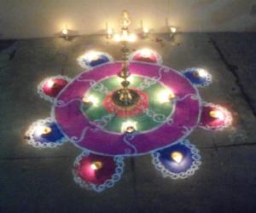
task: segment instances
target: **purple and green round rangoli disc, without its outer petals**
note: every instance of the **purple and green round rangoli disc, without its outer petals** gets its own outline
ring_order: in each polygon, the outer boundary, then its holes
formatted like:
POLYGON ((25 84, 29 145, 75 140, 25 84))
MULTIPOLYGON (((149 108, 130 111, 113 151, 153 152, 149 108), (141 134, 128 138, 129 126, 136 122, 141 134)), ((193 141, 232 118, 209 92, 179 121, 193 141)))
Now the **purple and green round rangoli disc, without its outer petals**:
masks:
POLYGON ((199 122, 201 98, 187 78, 165 66, 131 62, 131 87, 145 94, 148 103, 135 115, 129 109, 126 117, 109 112, 104 99, 119 89, 116 73, 121 65, 108 63, 83 72, 61 91, 53 112, 63 134, 78 147, 112 156, 149 153, 189 135, 199 122), (165 102, 162 94, 168 93, 175 97, 165 102), (87 106, 84 96, 96 103, 87 106), (125 122, 135 123, 137 131, 124 134, 125 122))

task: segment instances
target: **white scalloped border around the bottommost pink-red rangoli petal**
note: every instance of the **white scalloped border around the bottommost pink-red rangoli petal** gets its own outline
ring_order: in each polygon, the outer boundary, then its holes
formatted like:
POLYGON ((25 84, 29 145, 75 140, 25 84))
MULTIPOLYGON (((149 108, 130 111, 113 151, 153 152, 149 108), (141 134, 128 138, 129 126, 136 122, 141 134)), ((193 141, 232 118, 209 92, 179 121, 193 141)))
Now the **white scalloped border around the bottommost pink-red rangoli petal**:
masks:
MULTIPOLYGON (((89 156, 89 152, 83 152, 81 153, 74 161, 73 166, 76 167, 79 165, 80 160, 83 157, 89 156)), ((111 188, 114 186, 116 182, 118 182, 121 179, 121 176, 124 171, 124 158, 120 156, 115 156, 113 157, 113 160, 115 161, 116 168, 115 168, 115 173, 111 176, 110 179, 106 180, 104 183, 101 185, 96 185, 94 183, 90 183, 87 181, 83 181, 82 178, 80 178, 76 172, 76 170, 72 170, 73 172, 73 181, 75 181, 77 184, 79 184, 80 187, 86 188, 88 190, 93 190, 96 193, 101 193, 107 188, 111 188)))

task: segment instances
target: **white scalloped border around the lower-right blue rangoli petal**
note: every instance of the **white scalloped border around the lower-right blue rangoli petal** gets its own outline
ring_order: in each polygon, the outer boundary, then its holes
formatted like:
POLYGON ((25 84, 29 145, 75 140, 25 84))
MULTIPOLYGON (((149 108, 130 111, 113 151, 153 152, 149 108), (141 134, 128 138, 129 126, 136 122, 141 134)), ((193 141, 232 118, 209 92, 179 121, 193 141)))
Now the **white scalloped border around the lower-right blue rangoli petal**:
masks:
MULTIPOLYGON (((164 164, 160 162, 160 153, 156 151, 155 153, 151 154, 154 168, 156 170, 160 170, 162 176, 165 178, 170 177, 175 180, 185 179, 188 178, 189 176, 193 176, 195 174, 195 170, 199 170, 199 167, 201 165, 201 155, 199 154, 199 150, 195 147, 195 145, 191 144, 189 140, 180 141, 179 143, 185 147, 188 147, 192 153, 193 162, 190 168, 184 172, 174 173, 171 172, 170 170, 167 170, 164 164)), ((175 146, 175 144, 173 146, 175 146)))

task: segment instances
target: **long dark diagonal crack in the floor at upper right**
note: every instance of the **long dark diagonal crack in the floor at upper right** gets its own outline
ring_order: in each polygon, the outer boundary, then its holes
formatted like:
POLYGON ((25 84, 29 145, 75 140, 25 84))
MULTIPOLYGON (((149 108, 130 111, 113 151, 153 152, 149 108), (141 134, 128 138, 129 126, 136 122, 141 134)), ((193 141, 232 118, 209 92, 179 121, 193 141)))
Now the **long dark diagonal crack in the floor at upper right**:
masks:
POLYGON ((249 95, 247 95, 246 90, 244 89, 243 85, 241 84, 239 75, 236 72, 238 70, 238 66, 230 64, 230 62, 226 59, 226 57, 224 56, 224 53, 218 47, 218 44, 216 43, 216 41, 212 37, 210 37, 210 43, 212 43, 212 46, 218 52, 220 60, 222 60, 224 62, 224 65, 227 67, 228 71, 230 71, 233 74, 233 76, 236 78, 236 84, 239 87, 239 89, 241 90, 241 94, 243 95, 244 100, 247 102, 248 107, 253 112, 253 116, 256 118, 256 110, 254 109, 251 98, 250 98, 249 95))

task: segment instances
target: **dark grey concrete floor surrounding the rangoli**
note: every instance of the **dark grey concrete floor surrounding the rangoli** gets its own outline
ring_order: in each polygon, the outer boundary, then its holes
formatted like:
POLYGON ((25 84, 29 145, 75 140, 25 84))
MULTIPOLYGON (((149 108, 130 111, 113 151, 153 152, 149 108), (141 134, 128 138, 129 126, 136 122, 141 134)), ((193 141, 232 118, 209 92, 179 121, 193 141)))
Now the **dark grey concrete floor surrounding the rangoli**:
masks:
POLYGON ((79 188, 71 173, 78 148, 66 143, 38 150, 23 134, 33 121, 49 117, 51 105, 37 95, 42 79, 61 71, 75 77, 82 71, 76 58, 88 49, 120 60, 119 45, 101 36, 1 41, 0 212, 256 212, 256 33, 184 33, 175 41, 157 37, 132 43, 131 49, 155 49, 166 66, 177 70, 207 68, 213 83, 200 89, 203 100, 233 113, 228 130, 198 129, 189 136, 201 150, 201 170, 174 181, 162 178, 149 155, 125 158, 115 187, 103 193, 79 188))

